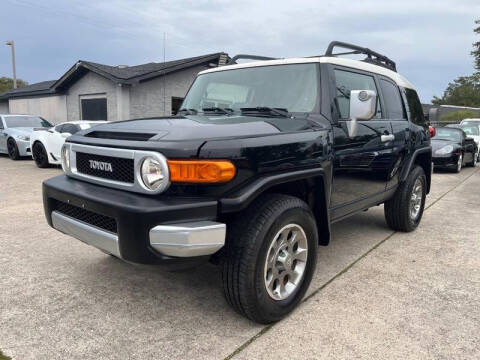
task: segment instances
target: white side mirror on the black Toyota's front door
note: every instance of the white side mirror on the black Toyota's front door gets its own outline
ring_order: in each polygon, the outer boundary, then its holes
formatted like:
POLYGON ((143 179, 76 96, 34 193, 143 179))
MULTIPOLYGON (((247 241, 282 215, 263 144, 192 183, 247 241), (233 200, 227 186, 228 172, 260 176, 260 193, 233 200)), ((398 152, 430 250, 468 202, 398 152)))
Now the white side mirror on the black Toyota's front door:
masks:
POLYGON ((350 91, 350 121, 348 136, 357 136, 358 120, 370 120, 375 115, 377 93, 373 90, 350 91))

